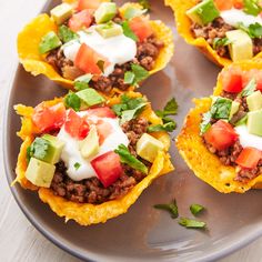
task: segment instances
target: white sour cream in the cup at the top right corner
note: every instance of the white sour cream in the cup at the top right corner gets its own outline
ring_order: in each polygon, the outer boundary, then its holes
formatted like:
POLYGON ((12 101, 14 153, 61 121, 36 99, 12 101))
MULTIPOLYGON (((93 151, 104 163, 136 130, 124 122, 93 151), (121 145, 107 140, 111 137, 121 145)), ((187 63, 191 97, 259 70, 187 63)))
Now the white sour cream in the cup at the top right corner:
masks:
POLYGON ((226 23, 229 23, 232 27, 236 27, 240 22, 242 22, 245 27, 249 27, 250 24, 253 24, 256 22, 262 24, 262 19, 260 16, 254 17, 254 16, 243 12, 242 10, 234 9, 234 8, 222 11, 220 16, 221 18, 223 18, 223 20, 226 23))

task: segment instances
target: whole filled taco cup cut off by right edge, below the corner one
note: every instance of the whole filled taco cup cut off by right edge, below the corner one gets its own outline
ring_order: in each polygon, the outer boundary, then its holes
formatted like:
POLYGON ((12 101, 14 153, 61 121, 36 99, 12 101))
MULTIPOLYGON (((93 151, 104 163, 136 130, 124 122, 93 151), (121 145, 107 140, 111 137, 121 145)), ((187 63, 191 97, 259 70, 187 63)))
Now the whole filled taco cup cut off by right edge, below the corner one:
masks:
POLYGON ((261 188, 262 61, 224 68, 210 98, 195 99, 177 138, 194 174, 222 193, 261 188))

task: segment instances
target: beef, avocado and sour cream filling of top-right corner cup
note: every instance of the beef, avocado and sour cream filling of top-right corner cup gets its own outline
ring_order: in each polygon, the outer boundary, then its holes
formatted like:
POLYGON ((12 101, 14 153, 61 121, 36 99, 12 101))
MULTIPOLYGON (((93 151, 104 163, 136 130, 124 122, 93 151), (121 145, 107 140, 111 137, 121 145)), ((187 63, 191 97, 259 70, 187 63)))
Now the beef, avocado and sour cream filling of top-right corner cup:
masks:
POLYGON ((262 6, 256 0, 203 0, 187 11, 194 38, 222 58, 240 61, 262 51, 262 6))

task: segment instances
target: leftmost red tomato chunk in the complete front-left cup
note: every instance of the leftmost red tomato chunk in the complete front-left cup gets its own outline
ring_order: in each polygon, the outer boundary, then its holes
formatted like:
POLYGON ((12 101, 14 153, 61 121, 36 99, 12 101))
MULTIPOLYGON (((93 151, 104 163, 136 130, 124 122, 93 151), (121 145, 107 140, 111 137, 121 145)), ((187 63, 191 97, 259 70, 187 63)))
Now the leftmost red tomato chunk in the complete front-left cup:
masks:
POLYGON ((41 132, 58 130, 66 120, 66 108, 62 102, 52 107, 46 102, 38 104, 32 114, 33 123, 41 132))

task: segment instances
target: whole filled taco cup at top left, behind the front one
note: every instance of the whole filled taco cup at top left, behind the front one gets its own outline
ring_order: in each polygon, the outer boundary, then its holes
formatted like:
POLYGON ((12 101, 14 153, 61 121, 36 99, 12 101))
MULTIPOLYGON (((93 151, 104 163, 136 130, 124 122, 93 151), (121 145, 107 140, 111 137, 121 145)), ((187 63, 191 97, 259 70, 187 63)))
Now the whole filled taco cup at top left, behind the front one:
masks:
POLYGON ((108 94, 138 85, 173 54, 171 29, 142 6, 102 0, 64 1, 28 23, 17 44, 33 75, 74 89, 78 77, 92 74, 90 87, 108 94))

